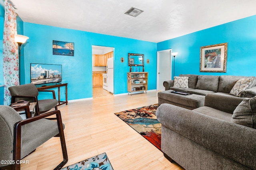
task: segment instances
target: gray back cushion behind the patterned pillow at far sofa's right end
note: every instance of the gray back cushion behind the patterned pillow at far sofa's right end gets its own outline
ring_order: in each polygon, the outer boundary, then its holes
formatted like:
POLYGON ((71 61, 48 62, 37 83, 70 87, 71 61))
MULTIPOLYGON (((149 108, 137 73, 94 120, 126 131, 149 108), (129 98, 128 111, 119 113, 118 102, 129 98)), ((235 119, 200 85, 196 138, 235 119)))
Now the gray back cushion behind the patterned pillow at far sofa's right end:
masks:
MULTIPOLYGON (((221 75, 219 81, 218 92, 230 93, 231 89, 236 84, 236 81, 239 79, 246 78, 254 78, 254 77, 246 77, 246 76, 234 76, 234 75, 221 75)), ((252 87, 255 86, 256 81, 254 81, 252 87)))

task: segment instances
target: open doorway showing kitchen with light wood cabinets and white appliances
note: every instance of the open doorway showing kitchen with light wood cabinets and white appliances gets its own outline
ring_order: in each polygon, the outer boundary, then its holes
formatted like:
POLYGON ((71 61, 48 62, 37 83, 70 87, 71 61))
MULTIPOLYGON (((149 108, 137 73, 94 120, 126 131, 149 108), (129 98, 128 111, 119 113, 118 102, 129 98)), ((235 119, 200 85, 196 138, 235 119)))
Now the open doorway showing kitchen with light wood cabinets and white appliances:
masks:
POLYGON ((92 97, 112 96, 113 75, 108 72, 108 64, 112 63, 114 48, 92 45, 92 97), (112 58, 112 59, 110 59, 112 58), (111 79, 112 77, 112 79, 111 79))

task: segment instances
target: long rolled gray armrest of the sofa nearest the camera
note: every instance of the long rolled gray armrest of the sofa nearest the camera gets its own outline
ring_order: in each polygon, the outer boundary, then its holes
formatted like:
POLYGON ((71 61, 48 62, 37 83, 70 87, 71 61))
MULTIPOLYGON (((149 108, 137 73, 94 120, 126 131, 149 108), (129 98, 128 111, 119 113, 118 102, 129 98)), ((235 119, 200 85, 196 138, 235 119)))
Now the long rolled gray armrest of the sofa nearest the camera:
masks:
POLYGON ((166 103, 158 107, 156 117, 170 130, 256 169, 256 129, 166 103))

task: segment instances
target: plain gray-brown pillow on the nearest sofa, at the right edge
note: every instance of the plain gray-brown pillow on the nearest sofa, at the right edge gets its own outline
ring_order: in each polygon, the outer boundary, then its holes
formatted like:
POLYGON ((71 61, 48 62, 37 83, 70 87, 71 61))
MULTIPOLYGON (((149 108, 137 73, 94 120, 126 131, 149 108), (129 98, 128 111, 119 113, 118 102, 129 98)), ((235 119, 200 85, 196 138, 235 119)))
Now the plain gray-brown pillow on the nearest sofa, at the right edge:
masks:
POLYGON ((256 128, 256 97, 244 99, 234 110, 231 122, 256 128))

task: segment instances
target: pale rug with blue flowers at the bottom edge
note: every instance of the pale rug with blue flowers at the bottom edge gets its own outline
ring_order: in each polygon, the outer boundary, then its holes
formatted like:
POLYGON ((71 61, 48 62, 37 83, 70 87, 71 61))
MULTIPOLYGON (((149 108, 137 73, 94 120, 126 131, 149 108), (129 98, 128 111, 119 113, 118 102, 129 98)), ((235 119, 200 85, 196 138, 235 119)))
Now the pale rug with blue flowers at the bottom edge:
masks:
POLYGON ((83 160, 61 170, 113 170, 106 153, 83 160))

